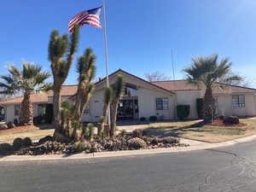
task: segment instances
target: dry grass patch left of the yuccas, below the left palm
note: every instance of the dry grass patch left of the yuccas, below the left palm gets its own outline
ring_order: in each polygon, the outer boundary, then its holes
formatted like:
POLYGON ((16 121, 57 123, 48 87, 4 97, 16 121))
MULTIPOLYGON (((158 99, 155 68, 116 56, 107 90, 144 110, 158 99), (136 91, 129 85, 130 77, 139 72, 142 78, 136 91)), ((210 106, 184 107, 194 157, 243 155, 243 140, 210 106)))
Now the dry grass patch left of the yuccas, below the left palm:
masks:
POLYGON ((32 140, 38 140, 42 137, 53 135, 53 129, 40 130, 38 127, 22 131, 6 131, 0 132, 0 143, 12 143, 16 137, 30 137, 32 140))

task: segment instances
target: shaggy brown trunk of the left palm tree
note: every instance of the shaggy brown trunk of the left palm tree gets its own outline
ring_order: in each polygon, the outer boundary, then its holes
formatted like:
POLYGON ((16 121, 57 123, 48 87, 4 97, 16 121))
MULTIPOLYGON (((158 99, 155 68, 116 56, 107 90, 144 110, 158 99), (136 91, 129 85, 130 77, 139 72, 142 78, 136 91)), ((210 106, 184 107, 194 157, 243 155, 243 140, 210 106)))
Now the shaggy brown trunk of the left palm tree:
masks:
POLYGON ((20 125, 32 125, 33 124, 33 107, 30 100, 30 92, 24 93, 23 101, 20 108, 20 125))

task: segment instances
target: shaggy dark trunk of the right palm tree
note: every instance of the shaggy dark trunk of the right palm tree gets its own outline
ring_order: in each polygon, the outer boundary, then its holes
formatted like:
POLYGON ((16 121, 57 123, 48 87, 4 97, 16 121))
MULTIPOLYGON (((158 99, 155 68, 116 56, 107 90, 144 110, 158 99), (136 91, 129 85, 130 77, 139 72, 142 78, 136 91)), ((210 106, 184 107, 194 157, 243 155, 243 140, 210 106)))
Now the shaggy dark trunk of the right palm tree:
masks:
POLYGON ((204 119, 205 122, 211 122, 215 117, 214 98, 212 96, 212 88, 207 88, 204 96, 204 119))

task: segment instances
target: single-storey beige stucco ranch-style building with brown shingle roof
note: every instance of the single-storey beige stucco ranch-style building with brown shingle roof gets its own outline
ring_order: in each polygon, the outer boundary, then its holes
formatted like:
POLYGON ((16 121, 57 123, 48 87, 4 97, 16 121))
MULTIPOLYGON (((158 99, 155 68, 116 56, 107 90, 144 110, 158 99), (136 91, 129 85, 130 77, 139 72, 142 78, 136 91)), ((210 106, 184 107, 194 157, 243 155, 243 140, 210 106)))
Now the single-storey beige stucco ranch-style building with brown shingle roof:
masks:
MULTIPOLYGON (((117 75, 122 75, 125 81, 125 94, 119 102, 118 120, 148 119, 156 116, 158 119, 176 119, 176 106, 190 106, 188 119, 198 119, 196 99, 204 96, 204 89, 187 84, 185 80, 148 82, 121 69, 109 75, 113 84, 117 75)), ((83 122, 97 122, 102 116, 104 89, 106 78, 96 82, 96 90, 91 97, 88 108, 84 110, 83 122)), ((61 99, 74 99, 76 85, 63 85, 61 99)), ((234 85, 227 85, 223 90, 214 88, 213 96, 219 115, 236 115, 242 117, 256 116, 256 90, 234 85)), ((52 91, 32 94, 34 116, 47 115, 52 110, 52 91)), ((19 118, 20 102, 18 96, 2 102, 5 108, 7 122, 19 118)), ((22 113, 22 112, 21 112, 22 113)), ((52 113, 50 114, 52 115, 52 113)))

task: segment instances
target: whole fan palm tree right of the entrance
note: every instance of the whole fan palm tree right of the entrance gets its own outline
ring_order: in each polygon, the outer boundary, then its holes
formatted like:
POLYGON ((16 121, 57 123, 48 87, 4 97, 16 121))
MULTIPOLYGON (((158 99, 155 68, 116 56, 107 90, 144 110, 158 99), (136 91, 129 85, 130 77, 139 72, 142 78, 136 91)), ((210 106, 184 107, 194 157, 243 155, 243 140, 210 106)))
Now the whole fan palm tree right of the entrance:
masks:
POLYGON ((228 58, 218 61, 218 55, 207 57, 196 57, 192 59, 191 67, 183 69, 187 73, 187 82, 200 87, 203 85, 206 89, 204 96, 204 118, 208 122, 214 118, 215 105, 212 96, 212 88, 218 86, 224 88, 224 85, 232 81, 241 80, 238 75, 230 75, 232 63, 228 58))

